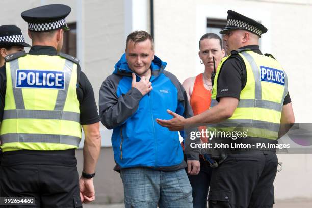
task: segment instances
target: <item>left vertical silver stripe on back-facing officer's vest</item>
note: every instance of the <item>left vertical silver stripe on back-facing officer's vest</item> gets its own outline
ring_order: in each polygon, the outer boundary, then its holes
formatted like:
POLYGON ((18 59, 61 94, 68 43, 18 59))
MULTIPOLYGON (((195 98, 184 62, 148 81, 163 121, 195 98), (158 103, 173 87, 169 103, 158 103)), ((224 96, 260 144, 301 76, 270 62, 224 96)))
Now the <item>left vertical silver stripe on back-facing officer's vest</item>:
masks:
POLYGON ((18 59, 15 59, 10 62, 11 68, 11 77, 12 77, 12 85, 13 85, 13 95, 15 99, 16 109, 25 109, 23 94, 21 88, 15 88, 16 86, 16 71, 19 69, 18 59))

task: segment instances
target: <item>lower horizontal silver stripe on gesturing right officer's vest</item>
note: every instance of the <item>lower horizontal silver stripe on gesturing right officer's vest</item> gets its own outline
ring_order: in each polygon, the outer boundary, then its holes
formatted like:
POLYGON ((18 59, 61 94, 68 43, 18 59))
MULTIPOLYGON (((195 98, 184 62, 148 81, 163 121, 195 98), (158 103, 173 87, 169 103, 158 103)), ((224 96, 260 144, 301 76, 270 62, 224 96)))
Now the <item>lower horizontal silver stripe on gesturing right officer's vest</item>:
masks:
POLYGON ((228 120, 225 120, 224 122, 220 122, 217 124, 209 124, 208 127, 259 128, 259 129, 266 129, 266 130, 274 131, 274 132, 278 132, 279 130, 278 123, 271 123, 267 121, 258 121, 258 120, 248 120, 248 119, 228 119, 228 120))

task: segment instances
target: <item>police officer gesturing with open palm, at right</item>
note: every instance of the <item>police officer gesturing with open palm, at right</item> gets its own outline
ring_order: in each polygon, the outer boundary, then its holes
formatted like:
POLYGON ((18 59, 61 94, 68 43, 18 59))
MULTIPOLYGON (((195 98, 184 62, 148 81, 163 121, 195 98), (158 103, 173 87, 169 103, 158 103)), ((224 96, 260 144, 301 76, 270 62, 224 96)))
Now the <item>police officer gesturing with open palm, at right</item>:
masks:
MULTIPOLYGON (((216 132, 233 133, 241 129, 244 132, 240 138, 236 135, 236 139, 232 137, 227 142, 266 145, 266 148, 226 150, 227 157, 221 158, 223 162, 220 160, 219 167, 213 169, 210 208, 274 204, 273 181, 278 163, 274 145, 280 136, 280 124, 292 124, 295 119, 282 66, 259 49, 259 38, 266 32, 264 25, 228 10, 226 27, 220 33, 224 34, 230 54, 218 66, 211 108, 188 119, 172 112, 169 112, 174 116, 171 120, 157 119, 172 131, 195 123, 210 123, 211 130, 216 132)), ((215 142, 218 139, 212 138, 215 142)))

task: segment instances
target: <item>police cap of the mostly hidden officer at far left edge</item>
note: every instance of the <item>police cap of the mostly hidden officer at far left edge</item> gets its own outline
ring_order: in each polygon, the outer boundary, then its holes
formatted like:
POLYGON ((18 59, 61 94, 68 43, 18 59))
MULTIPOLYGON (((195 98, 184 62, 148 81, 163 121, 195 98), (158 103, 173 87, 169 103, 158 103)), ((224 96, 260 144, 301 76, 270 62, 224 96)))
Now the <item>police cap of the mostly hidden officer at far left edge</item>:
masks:
POLYGON ((15 25, 2 25, 0 26, 0 47, 9 46, 31 47, 25 43, 20 28, 15 25))

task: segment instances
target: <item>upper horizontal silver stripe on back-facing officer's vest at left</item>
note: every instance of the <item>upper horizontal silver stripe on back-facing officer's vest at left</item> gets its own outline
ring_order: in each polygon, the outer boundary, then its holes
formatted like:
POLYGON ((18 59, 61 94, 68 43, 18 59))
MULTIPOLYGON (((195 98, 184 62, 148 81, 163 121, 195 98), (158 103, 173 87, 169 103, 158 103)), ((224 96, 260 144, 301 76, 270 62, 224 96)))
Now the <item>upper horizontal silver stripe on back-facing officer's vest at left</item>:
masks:
POLYGON ((70 111, 43 111, 13 109, 4 110, 3 119, 34 118, 34 119, 58 119, 80 122, 80 114, 70 111))

